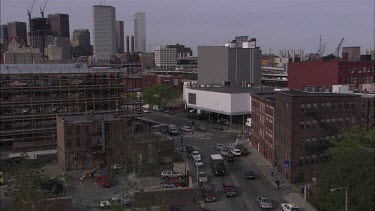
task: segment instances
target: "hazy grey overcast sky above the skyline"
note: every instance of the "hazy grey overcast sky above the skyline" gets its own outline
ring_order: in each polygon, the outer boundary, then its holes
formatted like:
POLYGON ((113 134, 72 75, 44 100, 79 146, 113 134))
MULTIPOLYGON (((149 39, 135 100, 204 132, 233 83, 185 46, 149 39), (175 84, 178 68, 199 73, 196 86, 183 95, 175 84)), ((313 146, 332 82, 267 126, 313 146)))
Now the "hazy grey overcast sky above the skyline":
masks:
MULTIPOLYGON (((36 0, 32 17, 45 0, 36 0)), ((374 48, 375 0, 101 0, 116 8, 116 19, 133 34, 133 15, 146 12, 147 48, 158 45, 224 45, 236 35, 256 37, 263 53, 304 49, 316 53, 319 36, 325 54, 343 46, 374 48)), ((92 33, 92 5, 100 0, 49 0, 45 14, 70 15, 70 33, 92 33)), ((0 0, 1 24, 27 21, 32 0, 0 0)), ((91 40, 92 42, 92 40, 91 40)))

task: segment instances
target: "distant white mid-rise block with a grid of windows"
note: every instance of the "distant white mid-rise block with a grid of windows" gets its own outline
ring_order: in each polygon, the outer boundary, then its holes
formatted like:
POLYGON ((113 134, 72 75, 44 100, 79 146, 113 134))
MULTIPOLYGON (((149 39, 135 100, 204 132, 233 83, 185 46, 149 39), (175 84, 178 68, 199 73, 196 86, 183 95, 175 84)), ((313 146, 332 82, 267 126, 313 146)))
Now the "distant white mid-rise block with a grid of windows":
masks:
POLYGON ((177 52, 175 48, 160 46, 155 49, 155 66, 160 69, 175 68, 177 65, 177 52))

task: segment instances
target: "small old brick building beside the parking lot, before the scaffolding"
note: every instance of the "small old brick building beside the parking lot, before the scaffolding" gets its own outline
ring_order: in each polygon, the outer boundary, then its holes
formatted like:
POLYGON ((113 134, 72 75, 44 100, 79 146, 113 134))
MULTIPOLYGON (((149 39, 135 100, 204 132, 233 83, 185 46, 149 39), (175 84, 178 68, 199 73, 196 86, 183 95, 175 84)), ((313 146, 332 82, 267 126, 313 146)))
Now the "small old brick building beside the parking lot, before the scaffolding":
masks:
POLYGON ((121 119, 112 113, 56 117, 57 158, 64 171, 105 164, 105 143, 121 135, 121 119))

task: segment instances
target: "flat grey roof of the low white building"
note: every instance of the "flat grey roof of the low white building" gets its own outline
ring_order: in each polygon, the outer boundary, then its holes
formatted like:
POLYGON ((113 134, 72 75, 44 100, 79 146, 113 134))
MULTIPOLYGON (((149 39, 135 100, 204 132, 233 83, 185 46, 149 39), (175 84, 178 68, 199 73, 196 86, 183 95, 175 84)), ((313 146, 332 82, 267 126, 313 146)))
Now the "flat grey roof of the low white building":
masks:
MULTIPOLYGON (((193 90, 202 90, 208 92, 220 92, 220 93, 229 93, 229 94, 236 94, 236 93, 258 93, 261 91, 260 87, 244 87, 244 86, 205 86, 205 87, 189 87, 193 90)), ((263 87, 262 90, 264 92, 273 91, 271 87, 263 87)))

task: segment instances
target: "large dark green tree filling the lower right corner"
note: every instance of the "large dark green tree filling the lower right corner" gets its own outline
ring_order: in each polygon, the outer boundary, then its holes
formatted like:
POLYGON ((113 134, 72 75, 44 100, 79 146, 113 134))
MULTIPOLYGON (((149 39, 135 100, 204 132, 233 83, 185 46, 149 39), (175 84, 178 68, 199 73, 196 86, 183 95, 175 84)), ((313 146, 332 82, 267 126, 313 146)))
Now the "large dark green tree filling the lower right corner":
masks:
POLYGON ((319 210, 343 210, 347 187, 349 210, 375 210, 375 130, 353 128, 332 142, 331 161, 317 182, 313 203, 319 210))

